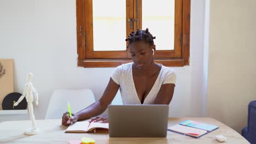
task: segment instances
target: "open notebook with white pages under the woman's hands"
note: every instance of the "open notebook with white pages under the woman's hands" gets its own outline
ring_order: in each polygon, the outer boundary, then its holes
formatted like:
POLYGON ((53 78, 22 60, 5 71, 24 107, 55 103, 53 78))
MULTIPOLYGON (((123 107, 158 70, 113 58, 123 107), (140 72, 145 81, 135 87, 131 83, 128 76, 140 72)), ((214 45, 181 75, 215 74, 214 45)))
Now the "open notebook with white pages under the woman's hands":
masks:
POLYGON ((108 123, 97 123, 97 122, 75 122, 69 125, 65 133, 108 133, 108 123))

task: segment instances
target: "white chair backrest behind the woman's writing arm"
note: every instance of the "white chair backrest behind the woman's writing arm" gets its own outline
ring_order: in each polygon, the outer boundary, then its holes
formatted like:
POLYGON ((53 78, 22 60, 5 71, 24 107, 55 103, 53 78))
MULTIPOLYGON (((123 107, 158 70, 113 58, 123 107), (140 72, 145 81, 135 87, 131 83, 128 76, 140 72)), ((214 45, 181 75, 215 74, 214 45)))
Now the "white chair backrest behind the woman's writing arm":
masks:
POLYGON ((90 89, 57 89, 51 95, 45 119, 61 119, 68 111, 67 101, 71 112, 76 113, 94 103, 95 97, 90 89))

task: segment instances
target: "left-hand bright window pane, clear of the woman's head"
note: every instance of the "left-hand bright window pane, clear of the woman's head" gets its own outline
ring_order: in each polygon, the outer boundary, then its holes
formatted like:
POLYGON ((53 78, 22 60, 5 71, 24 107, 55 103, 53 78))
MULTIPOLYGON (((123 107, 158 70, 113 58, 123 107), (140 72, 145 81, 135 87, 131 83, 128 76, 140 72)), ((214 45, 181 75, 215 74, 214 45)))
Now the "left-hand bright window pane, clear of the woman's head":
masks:
POLYGON ((126 50, 126 1, 93 0, 94 51, 126 50))

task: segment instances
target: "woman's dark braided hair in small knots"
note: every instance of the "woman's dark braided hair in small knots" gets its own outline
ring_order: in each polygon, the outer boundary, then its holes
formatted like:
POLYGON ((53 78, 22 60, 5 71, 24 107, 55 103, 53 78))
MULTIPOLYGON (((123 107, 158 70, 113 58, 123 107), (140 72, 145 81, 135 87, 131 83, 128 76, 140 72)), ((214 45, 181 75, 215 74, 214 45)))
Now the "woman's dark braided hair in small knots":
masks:
POLYGON ((154 41, 153 39, 155 39, 155 37, 153 37, 153 35, 148 31, 148 28, 146 28, 146 30, 139 30, 136 29, 135 32, 131 32, 128 35, 128 38, 125 39, 125 41, 128 41, 128 44, 132 44, 135 41, 141 41, 144 40, 146 44, 149 45, 154 45, 154 41))

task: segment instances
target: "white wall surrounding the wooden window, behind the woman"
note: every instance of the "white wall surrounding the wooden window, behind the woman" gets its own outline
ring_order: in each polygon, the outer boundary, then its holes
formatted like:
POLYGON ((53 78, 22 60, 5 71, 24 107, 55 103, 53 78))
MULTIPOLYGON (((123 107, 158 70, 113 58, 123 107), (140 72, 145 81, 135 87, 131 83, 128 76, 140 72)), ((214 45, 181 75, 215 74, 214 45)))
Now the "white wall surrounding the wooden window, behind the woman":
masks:
MULTIPOLYGON (((177 83, 170 104, 171 117, 202 115, 206 96, 201 76, 204 11, 203 0, 191 1, 190 66, 174 68, 177 83)), ((74 0, 0 0, 0 17, 0 58, 14 59, 15 92, 22 93, 29 71, 34 74, 33 84, 40 97, 36 119, 44 118, 54 89, 90 88, 97 99, 101 97, 114 68, 77 67, 74 0)), ((0 116, 0 121, 16 119, 28 116, 0 116)))

